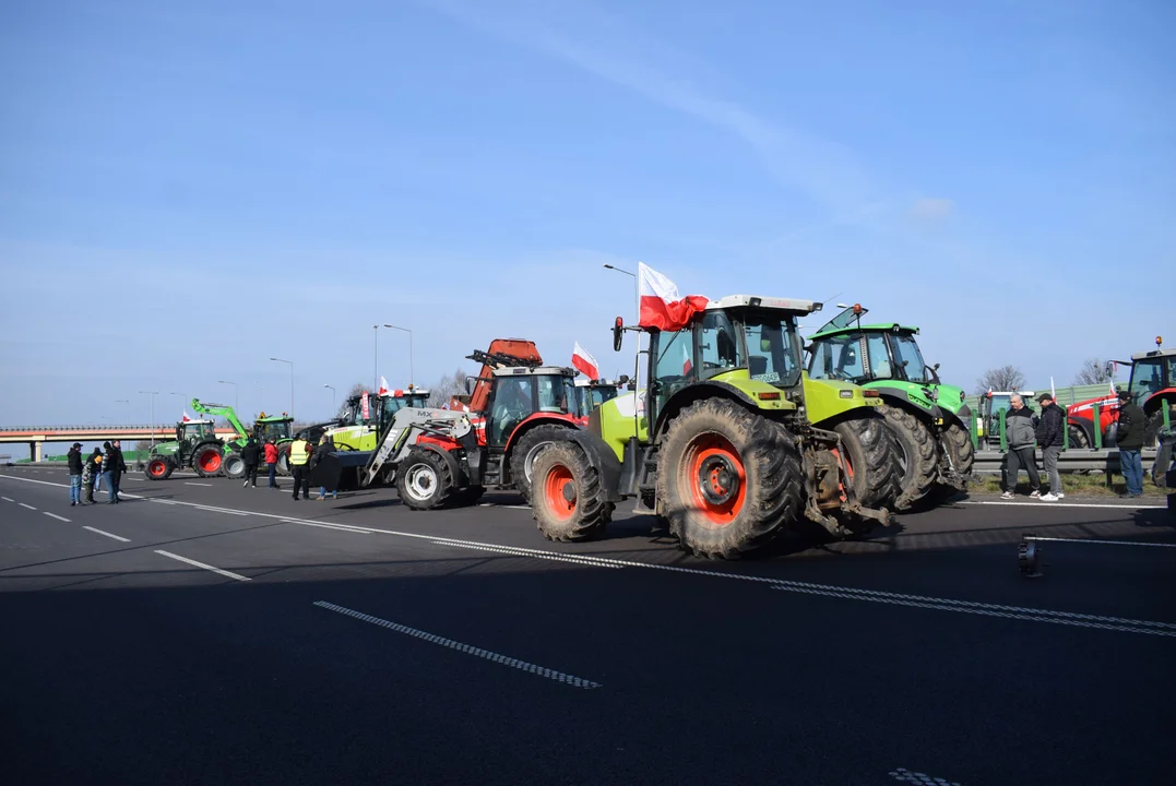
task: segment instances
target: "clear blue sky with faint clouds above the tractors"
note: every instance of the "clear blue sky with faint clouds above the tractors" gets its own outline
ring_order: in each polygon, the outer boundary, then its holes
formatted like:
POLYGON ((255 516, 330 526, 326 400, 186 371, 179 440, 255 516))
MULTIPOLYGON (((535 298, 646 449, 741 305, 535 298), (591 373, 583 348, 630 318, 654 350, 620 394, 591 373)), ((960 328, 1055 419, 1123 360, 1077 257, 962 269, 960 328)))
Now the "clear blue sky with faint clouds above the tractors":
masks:
POLYGON ((1176 5, 816 5, 5 4, 0 424, 282 409, 270 356, 325 417, 377 322, 419 383, 613 374, 603 262, 860 301, 968 388, 1176 342, 1176 5))

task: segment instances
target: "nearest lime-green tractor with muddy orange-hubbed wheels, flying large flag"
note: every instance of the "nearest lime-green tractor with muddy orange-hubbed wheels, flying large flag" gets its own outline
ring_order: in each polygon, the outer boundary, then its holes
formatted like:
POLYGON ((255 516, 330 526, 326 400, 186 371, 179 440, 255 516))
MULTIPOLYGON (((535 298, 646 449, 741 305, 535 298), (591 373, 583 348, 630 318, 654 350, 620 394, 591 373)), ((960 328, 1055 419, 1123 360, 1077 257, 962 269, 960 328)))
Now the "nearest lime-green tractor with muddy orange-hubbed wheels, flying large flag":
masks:
POLYGON ((897 446, 878 394, 804 372, 813 301, 733 295, 677 331, 648 330, 649 388, 597 407, 535 458, 532 510, 553 540, 603 532, 616 503, 652 510, 683 549, 734 558, 800 516, 835 537, 887 523, 897 446))

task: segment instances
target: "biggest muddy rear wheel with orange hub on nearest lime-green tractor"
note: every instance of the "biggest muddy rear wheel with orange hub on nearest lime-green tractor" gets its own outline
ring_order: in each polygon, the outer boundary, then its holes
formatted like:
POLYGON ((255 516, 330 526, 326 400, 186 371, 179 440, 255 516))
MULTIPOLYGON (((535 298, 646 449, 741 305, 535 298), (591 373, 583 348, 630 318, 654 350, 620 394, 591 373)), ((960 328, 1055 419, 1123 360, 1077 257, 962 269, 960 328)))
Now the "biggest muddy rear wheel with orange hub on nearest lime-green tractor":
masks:
POLYGON ((795 520, 801 462, 783 428, 723 398, 674 418, 659 452, 657 509, 682 547, 734 559, 795 520))

